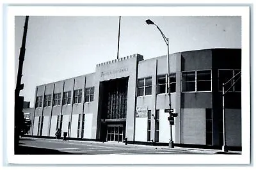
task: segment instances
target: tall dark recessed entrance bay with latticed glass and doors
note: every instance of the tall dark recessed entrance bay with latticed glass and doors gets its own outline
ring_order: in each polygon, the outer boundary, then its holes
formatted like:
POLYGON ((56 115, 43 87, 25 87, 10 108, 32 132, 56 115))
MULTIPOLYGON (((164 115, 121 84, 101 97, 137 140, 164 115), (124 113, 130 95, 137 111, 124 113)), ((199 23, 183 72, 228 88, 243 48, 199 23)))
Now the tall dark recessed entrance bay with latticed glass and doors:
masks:
POLYGON ((100 140, 122 142, 127 114, 129 77, 100 82, 100 140))

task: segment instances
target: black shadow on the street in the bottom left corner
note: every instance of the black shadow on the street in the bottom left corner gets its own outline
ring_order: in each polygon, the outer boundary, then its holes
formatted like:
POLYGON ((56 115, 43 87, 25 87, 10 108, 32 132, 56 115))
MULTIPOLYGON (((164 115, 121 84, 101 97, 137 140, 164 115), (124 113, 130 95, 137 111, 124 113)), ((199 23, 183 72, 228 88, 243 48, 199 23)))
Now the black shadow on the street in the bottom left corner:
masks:
POLYGON ((72 155, 74 153, 67 153, 58 150, 51 150, 45 148, 34 148, 29 146, 18 146, 14 151, 15 155, 72 155))

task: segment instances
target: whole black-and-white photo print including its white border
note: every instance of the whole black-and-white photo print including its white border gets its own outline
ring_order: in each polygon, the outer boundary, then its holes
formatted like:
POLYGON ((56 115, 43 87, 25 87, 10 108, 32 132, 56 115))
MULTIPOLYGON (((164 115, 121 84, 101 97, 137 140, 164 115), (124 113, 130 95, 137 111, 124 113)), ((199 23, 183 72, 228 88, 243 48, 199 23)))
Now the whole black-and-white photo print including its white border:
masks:
POLYGON ((248 162, 248 8, 16 7, 8 21, 15 63, 8 148, 17 164, 47 155, 248 162))

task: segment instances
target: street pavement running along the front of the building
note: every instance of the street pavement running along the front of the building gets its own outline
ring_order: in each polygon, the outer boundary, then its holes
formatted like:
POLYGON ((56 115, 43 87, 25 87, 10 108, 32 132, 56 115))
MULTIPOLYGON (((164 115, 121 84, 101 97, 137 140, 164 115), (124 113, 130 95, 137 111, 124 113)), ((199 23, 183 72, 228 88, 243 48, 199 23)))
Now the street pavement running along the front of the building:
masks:
MULTIPOLYGON (((21 137, 15 154, 215 154, 221 150, 21 137)), ((241 154, 228 151, 228 154, 241 154)))

